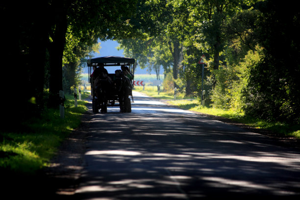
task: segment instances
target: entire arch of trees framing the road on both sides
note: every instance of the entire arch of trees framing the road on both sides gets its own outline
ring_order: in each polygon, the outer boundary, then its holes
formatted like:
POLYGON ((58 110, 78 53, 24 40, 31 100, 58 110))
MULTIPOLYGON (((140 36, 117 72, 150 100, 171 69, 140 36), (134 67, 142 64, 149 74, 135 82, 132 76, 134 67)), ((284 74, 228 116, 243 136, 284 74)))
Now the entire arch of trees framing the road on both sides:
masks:
POLYGON ((8 113, 57 106, 97 41, 114 39, 158 79, 162 67, 186 96, 201 96, 204 54, 207 106, 299 123, 299 14, 289 0, 1 2, 1 55, 17 97, 8 113))

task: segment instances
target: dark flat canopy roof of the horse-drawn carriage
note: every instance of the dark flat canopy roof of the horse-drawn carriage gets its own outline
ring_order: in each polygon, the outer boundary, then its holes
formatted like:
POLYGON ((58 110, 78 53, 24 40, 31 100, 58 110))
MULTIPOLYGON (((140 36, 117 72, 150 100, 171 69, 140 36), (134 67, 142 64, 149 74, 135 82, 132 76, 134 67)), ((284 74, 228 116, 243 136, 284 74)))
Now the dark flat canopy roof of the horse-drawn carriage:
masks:
POLYGON ((126 58, 126 57, 119 57, 119 56, 105 56, 105 57, 98 57, 92 58, 87 61, 88 66, 92 66, 93 64, 97 65, 98 63, 103 63, 106 65, 120 65, 120 64, 133 64, 135 62, 134 58, 126 58))

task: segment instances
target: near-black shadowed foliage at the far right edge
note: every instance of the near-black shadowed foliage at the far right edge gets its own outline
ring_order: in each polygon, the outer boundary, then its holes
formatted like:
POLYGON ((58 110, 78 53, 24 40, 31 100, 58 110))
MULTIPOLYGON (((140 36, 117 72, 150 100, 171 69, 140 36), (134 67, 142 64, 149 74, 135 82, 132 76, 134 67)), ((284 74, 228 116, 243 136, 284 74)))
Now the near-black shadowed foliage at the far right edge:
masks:
POLYGON ((246 114, 270 121, 300 122, 300 11, 291 3, 267 1, 261 8, 264 58, 250 71, 246 114))

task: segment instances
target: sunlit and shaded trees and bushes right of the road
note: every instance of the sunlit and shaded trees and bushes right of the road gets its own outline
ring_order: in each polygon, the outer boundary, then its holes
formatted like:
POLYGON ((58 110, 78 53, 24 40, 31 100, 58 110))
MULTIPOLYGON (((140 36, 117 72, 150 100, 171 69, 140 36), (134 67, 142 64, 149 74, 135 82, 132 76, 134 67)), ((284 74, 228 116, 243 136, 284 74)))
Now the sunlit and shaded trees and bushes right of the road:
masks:
MULTIPOLYGON (((292 1, 143 0, 130 24, 151 45, 168 46, 172 68, 165 77, 171 72, 186 96, 201 96, 197 62, 204 54, 207 105, 299 123, 299 13, 292 1)), ((148 62, 153 55, 144 54, 148 62)))

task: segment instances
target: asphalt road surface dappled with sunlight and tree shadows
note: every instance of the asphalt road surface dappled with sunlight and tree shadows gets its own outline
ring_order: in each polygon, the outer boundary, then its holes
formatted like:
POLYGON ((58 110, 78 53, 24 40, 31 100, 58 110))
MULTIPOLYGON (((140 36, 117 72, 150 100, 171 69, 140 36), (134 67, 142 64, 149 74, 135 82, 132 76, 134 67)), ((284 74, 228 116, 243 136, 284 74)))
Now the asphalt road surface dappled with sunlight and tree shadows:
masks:
POLYGON ((298 199, 300 150, 134 92, 89 122, 74 199, 298 199))

